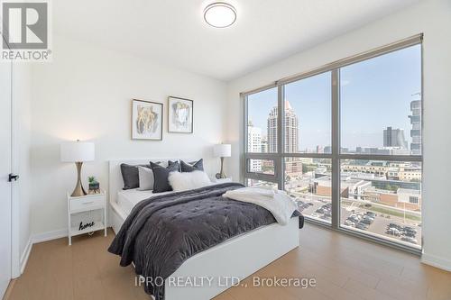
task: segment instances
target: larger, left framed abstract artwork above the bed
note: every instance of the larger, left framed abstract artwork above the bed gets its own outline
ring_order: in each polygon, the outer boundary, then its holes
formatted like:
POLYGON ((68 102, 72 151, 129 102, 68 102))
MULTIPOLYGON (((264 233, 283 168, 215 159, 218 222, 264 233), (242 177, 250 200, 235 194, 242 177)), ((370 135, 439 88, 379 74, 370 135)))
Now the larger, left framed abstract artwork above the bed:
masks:
POLYGON ((163 139, 163 104, 132 100, 132 140, 163 139))

